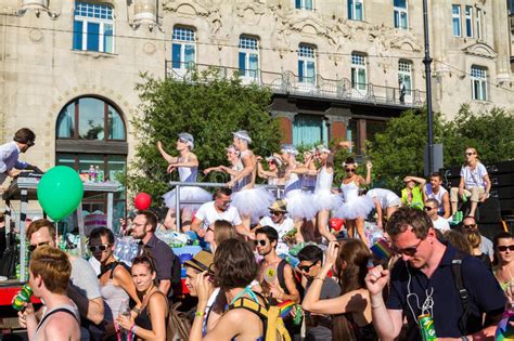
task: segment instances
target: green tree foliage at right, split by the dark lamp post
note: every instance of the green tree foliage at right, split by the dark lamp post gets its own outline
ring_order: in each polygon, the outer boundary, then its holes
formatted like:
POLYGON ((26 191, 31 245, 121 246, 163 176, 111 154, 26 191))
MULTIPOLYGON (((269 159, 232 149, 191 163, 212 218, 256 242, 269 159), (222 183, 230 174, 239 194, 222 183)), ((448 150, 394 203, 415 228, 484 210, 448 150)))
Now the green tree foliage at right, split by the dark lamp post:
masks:
MULTIPOLYGON (((451 121, 434 114, 434 143, 444 145, 445 167, 463 162, 466 147, 477 148, 484 162, 514 158, 513 113, 493 108, 475 114, 463 105, 451 121)), ((377 179, 399 189, 406 175, 423 176, 423 150, 427 140, 426 109, 407 110, 387 122, 385 132, 368 143, 377 179)))

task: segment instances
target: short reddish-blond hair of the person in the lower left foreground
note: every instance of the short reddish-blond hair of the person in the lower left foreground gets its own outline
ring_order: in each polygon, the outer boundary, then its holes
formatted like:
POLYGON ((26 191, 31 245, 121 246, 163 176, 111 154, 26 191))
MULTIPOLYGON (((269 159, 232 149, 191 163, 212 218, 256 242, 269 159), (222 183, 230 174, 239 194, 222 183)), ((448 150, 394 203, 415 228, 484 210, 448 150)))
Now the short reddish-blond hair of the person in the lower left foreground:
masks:
POLYGON ((44 287, 50 292, 66 293, 72 263, 64 251, 50 246, 40 246, 30 255, 29 268, 33 276, 41 276, 44 287))

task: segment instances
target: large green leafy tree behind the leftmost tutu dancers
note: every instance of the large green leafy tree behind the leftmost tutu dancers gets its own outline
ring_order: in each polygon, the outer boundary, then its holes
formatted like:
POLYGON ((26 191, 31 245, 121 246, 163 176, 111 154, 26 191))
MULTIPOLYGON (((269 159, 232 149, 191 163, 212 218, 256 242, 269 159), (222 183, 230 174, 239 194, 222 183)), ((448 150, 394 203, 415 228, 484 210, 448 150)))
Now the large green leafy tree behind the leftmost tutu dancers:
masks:
MULTIPOLYGON (((250 148, 267 156, 278 150, 280 128, 268 113, 271 92, 257 86, 242 86, 237 77, 223 78, 217 70, 193 71, 191 79, 155 79, 142 75, 136 89, 141 99, 140 115, 132 120, 138 144, 134 161, 129 166, 124 183, 132 192, 146 192, 154 204, 169 191, 168 181, 178 180, 166 173, 166 161, 156 148, 162 141, 174 153, 177 136, 189 132, 195 139, 194 153, 200 169, 227 165, 224 148, 232 143, 232 132, 244 129, 253 139, 250 148)), ((227 181, 219 174, 198 181, 227 181)))

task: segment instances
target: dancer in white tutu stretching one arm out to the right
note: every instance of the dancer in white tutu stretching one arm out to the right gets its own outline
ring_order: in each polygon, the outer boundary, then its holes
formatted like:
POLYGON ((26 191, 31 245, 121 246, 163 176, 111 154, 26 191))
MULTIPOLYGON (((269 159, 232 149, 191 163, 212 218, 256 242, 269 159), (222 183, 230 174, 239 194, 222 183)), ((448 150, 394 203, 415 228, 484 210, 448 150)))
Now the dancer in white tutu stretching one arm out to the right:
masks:
POLYGON ((345 141, 337 144, 334 150, 329 149, 329 147, 324 145, 318 147, 318 159, 321 163, 321 168, 318 170, 312 202, 318 211, 318 231, 329 241, 336 239, 335 236, 330 233, 327 227, 330 211, 336 210, 343 205, 343 198, 332 193, 332 182, 334 180, 334 156, 337 148, 349 148, 350 146, 351 142, 345 141))

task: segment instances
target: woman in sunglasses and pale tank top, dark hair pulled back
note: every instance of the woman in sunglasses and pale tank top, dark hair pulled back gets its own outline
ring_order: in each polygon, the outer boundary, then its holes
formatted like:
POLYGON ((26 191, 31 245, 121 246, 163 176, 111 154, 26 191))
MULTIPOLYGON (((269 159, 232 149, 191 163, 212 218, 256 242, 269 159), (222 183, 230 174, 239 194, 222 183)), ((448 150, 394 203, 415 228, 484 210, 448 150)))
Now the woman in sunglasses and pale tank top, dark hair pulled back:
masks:
MULTIPOLYGON (((100 292, 105 306, 103 331, 105 339, 115 336, 114 322, 136 302, 133 314, 141 306, 130 272, 114 258, 114 234, 106 227, 97 227, 89 234, 89 250, 100 262, 100 292), (118 266, 119 265, 119 266, 118 266)), ((98 331, 98 330, 97 330, 98 331)), ((94 332, 94 331, 93 331, 94 332)))

